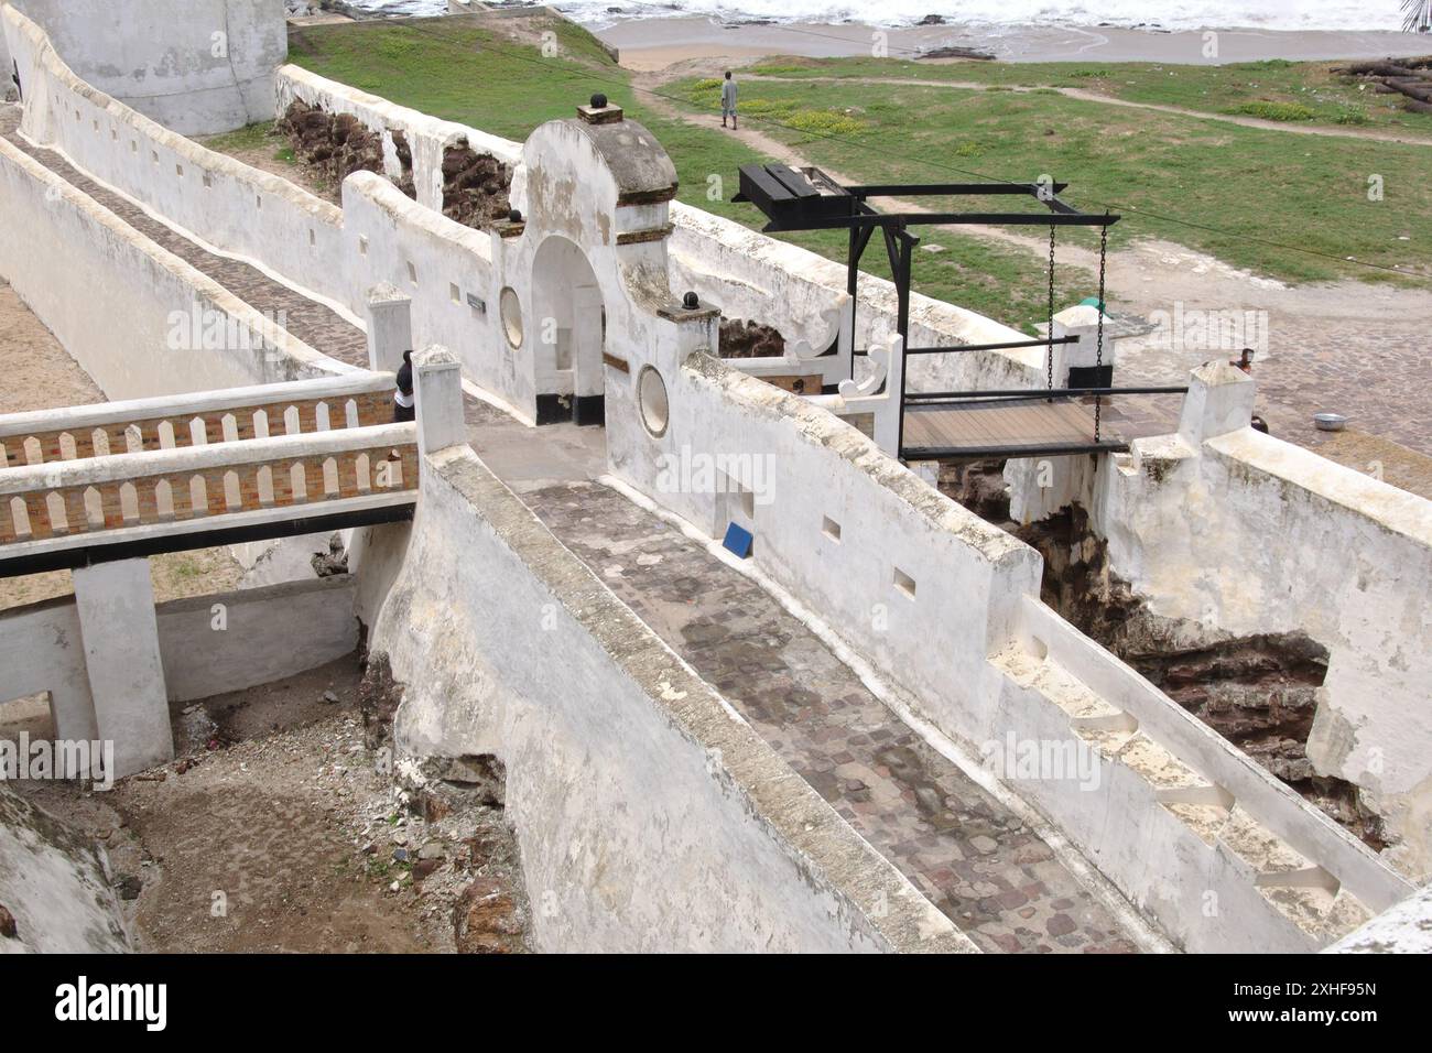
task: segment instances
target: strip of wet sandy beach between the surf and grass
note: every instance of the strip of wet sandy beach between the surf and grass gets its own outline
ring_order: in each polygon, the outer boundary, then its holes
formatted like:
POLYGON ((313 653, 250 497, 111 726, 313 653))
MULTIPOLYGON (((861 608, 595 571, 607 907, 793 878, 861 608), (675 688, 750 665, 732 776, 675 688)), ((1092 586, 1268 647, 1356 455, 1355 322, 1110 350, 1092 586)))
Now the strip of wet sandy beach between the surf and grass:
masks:
POLYGON ((1432 52, 1432 39, 1406 33, 1214 30, 1217 53, 1206 54, 1206 30, 1180 33, 1114 27, 1025 26, 977 30, 967 26, 878 27, 863 23, 722 23, 706 17, 632 19, 591 32, 621 52, 634 70, 663 69, 687 59, 755 59, 871 54, 875 33, 886 34, 892 59, 914 59, 937 47, 969 47, 1004 62, 1169 62, 1216 64, 1260 59, 1370 59, 1432 52))

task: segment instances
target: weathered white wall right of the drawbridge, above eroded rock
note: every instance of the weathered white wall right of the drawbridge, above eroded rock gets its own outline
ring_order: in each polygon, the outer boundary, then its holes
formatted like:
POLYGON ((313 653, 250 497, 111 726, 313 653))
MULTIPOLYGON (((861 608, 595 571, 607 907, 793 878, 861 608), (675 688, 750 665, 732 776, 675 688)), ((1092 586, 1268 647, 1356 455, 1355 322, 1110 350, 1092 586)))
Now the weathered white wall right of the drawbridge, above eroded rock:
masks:
POLYGON ((1143 441, 1093 487, 1110 566, 1154 613, 1327 648, 1309 756, 1432 874, 1432 501, 1249 427, 1143 441))

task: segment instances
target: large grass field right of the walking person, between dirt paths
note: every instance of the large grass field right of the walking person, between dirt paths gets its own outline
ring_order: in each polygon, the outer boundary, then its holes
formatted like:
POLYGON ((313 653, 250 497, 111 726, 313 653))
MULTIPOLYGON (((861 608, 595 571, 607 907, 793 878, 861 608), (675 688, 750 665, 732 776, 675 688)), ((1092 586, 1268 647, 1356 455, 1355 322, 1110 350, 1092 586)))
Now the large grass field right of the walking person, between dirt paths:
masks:
MULTIPOLYGON (((670 90, 696 110, 717 89, 687 80, 670 90)), ((1292 136, 1053 92, 780 80, 748 82, 742 105, 812 163, 863 182, 1053 175, 1070 183, 1068 202, 1124 216, 1113 245, 1166 238, 1287 281, 1398 278, 1346 256, 1432 272, 1426 146, 1292 136), (823 130, 821 113, 842 129, 823 130), (1382 201, 1369 201, 1373 175, 1382 201)), ((1087 231, 1067 236, 1091 244, 1087 231)))

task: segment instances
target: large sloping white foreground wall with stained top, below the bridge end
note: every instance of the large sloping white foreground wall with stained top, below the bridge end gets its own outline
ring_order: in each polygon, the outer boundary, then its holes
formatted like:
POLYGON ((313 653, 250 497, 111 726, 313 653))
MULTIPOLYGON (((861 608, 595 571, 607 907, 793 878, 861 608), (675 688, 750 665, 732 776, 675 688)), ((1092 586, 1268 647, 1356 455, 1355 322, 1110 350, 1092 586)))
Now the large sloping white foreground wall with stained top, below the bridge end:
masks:
POLYGON ((972 950, 470 448, 421 474, 371 646, 400 751, 505 762, 541 950, 972 950))

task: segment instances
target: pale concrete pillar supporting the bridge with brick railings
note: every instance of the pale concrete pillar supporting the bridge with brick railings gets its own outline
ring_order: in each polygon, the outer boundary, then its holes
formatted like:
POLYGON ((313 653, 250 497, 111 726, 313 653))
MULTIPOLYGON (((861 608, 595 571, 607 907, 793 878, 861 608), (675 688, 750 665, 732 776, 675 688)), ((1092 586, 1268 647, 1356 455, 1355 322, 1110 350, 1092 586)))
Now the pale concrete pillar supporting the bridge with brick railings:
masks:
POLYGON ((74 572, 74 603, 100 741, 115 744, 115 778, 172 761, 169 693, 149 560, 126 559, 74 572))

